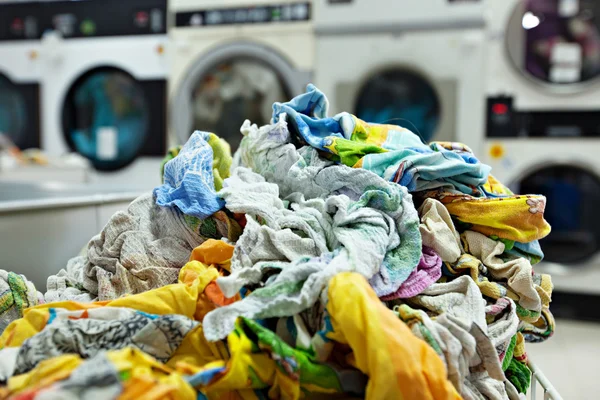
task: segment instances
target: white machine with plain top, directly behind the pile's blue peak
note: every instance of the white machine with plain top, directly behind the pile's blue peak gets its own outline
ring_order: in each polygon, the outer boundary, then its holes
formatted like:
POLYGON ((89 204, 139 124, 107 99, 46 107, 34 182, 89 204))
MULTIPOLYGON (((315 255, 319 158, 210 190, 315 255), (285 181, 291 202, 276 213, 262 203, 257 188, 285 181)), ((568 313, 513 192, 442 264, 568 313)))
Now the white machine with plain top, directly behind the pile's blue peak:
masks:
POLYGON ((481 2, 320 1, 315 83, 331 113, 401 125, 424 142, 483 138, 481 2), (369 18, 365 18, 365 16, 369 18))

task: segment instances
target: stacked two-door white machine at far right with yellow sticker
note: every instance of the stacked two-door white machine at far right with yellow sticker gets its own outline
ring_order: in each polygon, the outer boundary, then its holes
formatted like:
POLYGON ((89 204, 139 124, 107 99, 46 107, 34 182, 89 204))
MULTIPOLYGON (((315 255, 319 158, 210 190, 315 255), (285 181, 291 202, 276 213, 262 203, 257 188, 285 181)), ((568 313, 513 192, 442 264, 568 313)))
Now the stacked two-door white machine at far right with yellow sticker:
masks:
POLYGON ((555 290, 600 294, 600 3, 489 6, 483 156, 516 192, 547 198, 536 269, 555 290))

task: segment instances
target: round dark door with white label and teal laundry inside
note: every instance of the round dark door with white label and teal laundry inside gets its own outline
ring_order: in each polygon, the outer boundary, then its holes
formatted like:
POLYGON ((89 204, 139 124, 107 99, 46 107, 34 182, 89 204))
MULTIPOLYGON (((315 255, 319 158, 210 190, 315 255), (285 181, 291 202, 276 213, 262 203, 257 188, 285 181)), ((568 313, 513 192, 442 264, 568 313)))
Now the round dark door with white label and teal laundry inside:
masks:
POLYGON ((150 107, 140 82, 116 68, 78 78, 63 105, 63 134, 71 150, 97 170, 133 162, 148 139, 150 107))

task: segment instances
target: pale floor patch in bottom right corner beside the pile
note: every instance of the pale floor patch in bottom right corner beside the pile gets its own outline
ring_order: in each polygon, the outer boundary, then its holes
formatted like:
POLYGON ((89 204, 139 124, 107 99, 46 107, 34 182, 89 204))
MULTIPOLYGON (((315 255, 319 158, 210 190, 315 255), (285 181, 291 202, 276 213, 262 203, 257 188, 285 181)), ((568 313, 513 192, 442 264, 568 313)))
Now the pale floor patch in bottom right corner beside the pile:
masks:
POLYGON ((529 343, 527 353, 564 400, 600 398, 600 324, 557 320, 554 336, 529 343))

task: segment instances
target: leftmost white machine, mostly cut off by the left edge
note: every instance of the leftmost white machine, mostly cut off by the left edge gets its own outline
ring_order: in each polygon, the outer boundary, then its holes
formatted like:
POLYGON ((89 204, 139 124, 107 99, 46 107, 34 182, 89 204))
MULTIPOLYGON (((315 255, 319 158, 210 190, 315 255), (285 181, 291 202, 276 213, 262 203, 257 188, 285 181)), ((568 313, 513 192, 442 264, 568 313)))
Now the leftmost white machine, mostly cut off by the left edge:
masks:
POLYGON ((40 9, 0 3, 0 133, 20 149, 40 147, 40 9))

